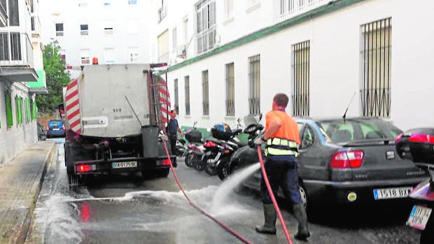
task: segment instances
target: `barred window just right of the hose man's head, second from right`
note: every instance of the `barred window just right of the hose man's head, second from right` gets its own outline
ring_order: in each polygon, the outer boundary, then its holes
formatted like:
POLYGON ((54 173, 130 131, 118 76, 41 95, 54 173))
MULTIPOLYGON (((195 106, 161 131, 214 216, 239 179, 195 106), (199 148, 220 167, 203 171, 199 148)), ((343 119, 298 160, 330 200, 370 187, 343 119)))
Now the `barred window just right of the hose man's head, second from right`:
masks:
POLYGON ((303 41, 292 45, 292 103, 293 116, 309 116, 309 56, 310 43, 303 41))

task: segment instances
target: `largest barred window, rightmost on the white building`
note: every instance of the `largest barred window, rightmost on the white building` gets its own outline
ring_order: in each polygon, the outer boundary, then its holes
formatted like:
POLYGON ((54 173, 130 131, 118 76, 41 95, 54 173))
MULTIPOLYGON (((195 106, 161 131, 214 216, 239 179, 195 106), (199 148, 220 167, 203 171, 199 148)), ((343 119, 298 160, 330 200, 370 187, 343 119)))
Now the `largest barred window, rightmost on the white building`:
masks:
POLYGON ((360 31, 362 114, 366 117, 391 117, 391 18, 363 24, 360 31))

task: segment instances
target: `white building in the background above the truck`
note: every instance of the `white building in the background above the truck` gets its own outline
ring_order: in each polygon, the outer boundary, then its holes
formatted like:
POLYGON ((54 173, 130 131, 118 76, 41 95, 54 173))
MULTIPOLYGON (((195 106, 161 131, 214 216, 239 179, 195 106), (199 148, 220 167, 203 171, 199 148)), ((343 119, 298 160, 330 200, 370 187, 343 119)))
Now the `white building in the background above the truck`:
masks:
POLYGON ((150 9, 143 0, 40 0, 43 42, 57 41, 67 65, 146 63, 150 9))

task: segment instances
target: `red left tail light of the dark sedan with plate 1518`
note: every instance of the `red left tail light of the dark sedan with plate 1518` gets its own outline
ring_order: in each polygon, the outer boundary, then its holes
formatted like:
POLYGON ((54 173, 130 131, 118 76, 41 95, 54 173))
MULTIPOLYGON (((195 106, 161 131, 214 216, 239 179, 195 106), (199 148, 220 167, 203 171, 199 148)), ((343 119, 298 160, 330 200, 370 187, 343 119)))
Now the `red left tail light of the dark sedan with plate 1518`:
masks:
POLYGON ((349 150, 337 152, 330 161, 332 168, 360 168, 365 158, 365 152, 361 150, 349 150))

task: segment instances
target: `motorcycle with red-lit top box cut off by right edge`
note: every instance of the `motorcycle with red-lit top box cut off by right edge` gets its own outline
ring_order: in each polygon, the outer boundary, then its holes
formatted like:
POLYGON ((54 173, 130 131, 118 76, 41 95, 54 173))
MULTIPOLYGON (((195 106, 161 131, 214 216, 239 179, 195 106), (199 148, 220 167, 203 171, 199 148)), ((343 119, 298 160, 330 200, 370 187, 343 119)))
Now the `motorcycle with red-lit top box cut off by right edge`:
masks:
POLYGON ((415 204, 407 225, 421 230, 421 244, 434 243, 434 128, 405 131, 396 138, 395 145, 400 157, 411 159, 430 174, 429 179, 414 187, 409 194, 415 204))

